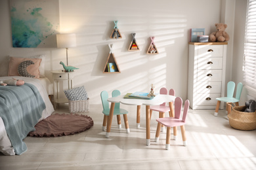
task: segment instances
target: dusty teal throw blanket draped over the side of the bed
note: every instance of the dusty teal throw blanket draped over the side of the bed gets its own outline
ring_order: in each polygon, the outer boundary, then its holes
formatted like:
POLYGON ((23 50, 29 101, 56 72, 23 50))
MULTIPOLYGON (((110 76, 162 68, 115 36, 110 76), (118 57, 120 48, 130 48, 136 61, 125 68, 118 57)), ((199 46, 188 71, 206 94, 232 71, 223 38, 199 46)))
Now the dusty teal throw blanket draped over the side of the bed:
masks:
POLYGON ((26 152, 23 139, 41 118, 45 103, 35 86, 0 86, 0 116, 15 153, 26 152))

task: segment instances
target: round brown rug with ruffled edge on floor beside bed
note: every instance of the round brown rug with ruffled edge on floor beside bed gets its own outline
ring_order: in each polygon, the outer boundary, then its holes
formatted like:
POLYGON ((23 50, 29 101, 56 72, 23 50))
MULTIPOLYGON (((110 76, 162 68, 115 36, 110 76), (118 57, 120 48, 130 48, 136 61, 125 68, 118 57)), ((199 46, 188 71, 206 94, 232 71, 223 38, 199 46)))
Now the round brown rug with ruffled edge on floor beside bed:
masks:
POLYGON ((93 119, 79 114, 53 114, 35 125, 30 137, 60 137, 86 131, 93 126, 93 119))

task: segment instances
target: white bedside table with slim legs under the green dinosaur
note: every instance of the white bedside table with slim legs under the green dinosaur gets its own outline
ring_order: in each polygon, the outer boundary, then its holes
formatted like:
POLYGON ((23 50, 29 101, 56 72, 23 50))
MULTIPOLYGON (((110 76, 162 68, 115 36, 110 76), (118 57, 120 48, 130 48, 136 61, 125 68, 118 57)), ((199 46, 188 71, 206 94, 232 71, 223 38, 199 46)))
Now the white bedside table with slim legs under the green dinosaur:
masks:
POLYGON ((68 82, 68 89, 73 88, 73 78, 74 72, 64 72, 64 71, 52 71, 53 74, 53 96, 54 96, 54 109, 56 109, 56 105, 59 103, 68 103, 68 99, 66 97, 60 97, 59 95, 59 84, 62 85, 64 81, 68 82))

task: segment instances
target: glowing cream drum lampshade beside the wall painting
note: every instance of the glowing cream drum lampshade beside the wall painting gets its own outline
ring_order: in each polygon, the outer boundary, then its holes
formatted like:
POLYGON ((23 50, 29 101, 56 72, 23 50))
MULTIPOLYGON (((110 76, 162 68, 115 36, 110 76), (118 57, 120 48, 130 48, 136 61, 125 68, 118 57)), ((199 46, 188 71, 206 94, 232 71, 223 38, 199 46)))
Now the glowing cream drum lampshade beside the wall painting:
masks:
POLYGON ((58 48, 69 48, 76 46, 75 33, 57 34, 56 39, 58 48))

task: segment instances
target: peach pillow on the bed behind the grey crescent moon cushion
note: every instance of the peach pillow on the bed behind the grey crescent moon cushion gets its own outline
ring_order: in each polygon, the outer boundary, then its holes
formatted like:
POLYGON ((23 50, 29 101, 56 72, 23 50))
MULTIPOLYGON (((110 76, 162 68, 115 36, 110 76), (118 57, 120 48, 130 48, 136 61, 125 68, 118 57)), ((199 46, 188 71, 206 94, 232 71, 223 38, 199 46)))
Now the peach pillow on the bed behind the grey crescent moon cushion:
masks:
POLYGON ((40 77, 39 66, 40 66, 40 63, 42 61, 41 58, 14 58, 14 57, 10 57, 8 76, 20 76, 20 74, 18 73, 18 66, 20 65, 20 63, 22 63, 22 61, 26 61, 26 60, 31 60, 34 63, 34 64, 29 65, 27 67, 28 73, 30 73, 30 75, 34 75, 35 78, 39 78, 40 77))

